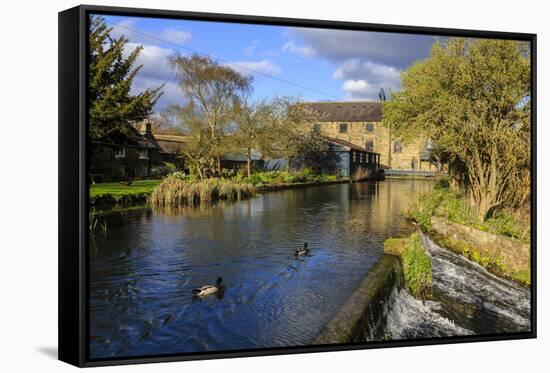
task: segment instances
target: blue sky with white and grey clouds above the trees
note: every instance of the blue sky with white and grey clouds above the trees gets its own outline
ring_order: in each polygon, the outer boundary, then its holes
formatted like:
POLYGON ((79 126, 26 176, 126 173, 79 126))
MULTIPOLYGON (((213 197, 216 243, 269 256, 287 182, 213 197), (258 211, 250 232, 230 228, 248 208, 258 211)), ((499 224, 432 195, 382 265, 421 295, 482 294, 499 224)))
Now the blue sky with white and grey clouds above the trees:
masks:
POLYGON ((113 36, 138 45, 143 64, 134 92, 165 84, 155 106, 183 103, 167 57, 208 54, 253 75, 253 98, 294 96, 306 101, 375 100, 380 88, 399 89, 399 72, 428 56, 434 38, 423 35, 343 31, 236 23, 104 17, 113 36), (269 76, 275 77, 273 79, 269 76), (296 85, 282 82, 282 79, 296 85))

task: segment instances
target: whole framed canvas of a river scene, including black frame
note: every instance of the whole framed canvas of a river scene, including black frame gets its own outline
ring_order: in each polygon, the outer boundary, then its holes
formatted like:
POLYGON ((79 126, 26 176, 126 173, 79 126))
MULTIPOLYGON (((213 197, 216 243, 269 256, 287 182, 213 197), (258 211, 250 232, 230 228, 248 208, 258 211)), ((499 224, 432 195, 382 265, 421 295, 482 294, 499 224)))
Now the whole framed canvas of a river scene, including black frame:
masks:
POLYGON ((536 35, 59 13, 59 359, 536 336, 536 35))

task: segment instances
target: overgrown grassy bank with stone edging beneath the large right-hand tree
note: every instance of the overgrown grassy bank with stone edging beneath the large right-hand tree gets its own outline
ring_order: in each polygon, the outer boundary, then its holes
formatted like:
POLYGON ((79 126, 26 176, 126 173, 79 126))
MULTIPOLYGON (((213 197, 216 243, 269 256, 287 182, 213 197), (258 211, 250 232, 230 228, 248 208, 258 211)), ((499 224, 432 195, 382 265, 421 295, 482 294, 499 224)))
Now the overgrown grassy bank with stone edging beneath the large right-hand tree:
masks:
POLYGON ((500 277, 523 285, 531 283, 529 269, 517 265, 529 259, 528 250, 518 249, 521 245, 530 243, 528 212, 501 210, 493 217, 481 221, 464 196, 448 188, 439 187, 419 195, 410 204, 407 215, 417 222, 422 230, 429 232, 438 245, 463 255, 500 277), (460 232, 467 229, 470 231, 461 235, 456 232, 442 232, 443 223, 437 223, 437 227, 433 226, 436 217, 441 218, 440 222, 450 222, 445 223, 447 230, 451 229, 454 223, 456 226, 453 229, 460 232), (494 236, 487 236, 483 232, 494 236), (496 237, 503 241, 495 241, 496 237))

